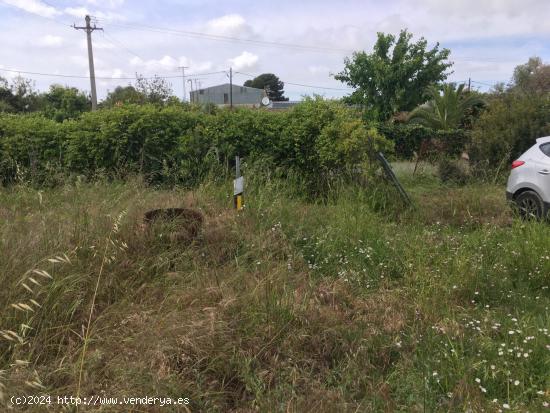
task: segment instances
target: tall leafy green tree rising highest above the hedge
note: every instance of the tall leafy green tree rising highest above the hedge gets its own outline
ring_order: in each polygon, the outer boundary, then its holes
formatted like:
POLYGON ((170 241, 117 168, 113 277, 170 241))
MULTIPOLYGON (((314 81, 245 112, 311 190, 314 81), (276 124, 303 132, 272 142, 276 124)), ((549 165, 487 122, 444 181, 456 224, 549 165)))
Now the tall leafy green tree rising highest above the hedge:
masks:
POLYGON ((427 50, 424 38, 416 43, 411 39, 407 30, 397 38, 378 33, 372 53, 355 52, 346 58, 344 70, 334 76, 355 89, 346 100, 365 105, 377 120, 421 104, 426 88, 447 79, 452 63, 447 61, 450 51, 440 50, 439 43, 427 50))

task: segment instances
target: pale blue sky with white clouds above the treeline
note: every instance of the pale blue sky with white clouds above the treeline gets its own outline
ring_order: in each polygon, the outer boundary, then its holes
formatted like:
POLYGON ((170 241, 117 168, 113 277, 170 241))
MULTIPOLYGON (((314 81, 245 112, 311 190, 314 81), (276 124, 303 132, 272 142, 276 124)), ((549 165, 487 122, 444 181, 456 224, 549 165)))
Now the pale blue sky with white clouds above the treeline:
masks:
POLYGON ((404 28, 449 48, 449 80, 480 90, 508 82, 531 56, 550 61, 547 0, 0 0, 0 76, 89 91, 86 35, 71 27, 86 14, 103 28, 92 34, 100 99, 136 73, 166 77, 181 97, 180 66, 187 94, 228 82, 232 67, 235 84, 275 73, 291 100, 341 97, 349 90, 333 74, 344 58, 404 28))

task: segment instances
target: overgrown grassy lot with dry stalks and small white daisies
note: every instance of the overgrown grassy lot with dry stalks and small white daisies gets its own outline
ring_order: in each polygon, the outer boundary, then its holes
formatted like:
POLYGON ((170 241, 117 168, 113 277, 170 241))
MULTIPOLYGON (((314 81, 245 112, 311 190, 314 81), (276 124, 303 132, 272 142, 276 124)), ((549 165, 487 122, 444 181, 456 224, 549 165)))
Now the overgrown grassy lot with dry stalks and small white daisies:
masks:
POLYGON ((269 179, 240 213, 230 182, 2 189, 4 403, 25 393, 191 400, 80 408, 108 412, 544 411, 550 226, 514 219, 500 185, 444 187, 398 169, 415 210, 349 187, 307 203, 269 179), (144 212, 167 206, 204 213, 190 246, 143 231, 144 212))

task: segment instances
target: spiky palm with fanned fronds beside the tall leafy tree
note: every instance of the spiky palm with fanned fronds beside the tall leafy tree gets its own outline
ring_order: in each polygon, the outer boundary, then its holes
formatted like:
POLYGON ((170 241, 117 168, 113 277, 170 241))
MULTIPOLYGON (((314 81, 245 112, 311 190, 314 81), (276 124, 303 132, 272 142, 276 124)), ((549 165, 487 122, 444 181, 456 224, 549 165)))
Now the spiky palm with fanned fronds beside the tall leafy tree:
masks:
POLYGON ((456 87, 449 83, 442 89, 430 86, 427 91, 430 100, 411 112, 409 122, 433 129, 457 129, 475 106, 483 105, 479 96, 464 92, 463 84, 456 87))

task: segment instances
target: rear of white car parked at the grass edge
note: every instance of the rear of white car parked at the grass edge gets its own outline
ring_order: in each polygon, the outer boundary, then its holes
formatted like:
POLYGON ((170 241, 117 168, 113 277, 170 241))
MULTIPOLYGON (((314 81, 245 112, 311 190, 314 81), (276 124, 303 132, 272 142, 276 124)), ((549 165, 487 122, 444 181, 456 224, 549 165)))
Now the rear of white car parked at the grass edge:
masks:
POLYGON ((512 162, 506 197, 522 218, 546 218, 550 211, 550 136, 537 139, 512 162))

